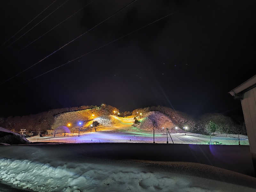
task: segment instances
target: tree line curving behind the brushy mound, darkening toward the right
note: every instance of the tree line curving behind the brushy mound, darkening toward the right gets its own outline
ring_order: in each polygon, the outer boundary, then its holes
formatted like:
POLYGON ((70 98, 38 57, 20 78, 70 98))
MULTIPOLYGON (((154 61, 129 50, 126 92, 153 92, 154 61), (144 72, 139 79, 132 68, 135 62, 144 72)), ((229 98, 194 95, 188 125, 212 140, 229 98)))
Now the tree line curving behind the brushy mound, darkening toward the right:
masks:
POLYGON ((234 121, 231 117, 224 116, 219 113, 204 114, 199 118, 194 118, 186 113, 174 110, 164 106, 152 106, 146 108, 138 108, 132 111, 132 115, 138 116, 142 113, 146 114, 150 111, 159 111, 168 116, 173 124, 179 128, 187 126, 190 132, 209 135, 215 134, 243 134, 247 135, 244 122, 234 121), (138 113, 137 113, 138 112, 138 113))

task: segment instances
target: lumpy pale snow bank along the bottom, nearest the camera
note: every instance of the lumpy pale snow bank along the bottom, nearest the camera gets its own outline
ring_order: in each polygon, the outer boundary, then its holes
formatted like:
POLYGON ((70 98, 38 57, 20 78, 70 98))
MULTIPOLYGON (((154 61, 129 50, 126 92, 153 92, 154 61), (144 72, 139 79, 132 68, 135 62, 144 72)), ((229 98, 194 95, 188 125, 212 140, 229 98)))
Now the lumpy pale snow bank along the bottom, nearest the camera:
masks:
POLYGON ((53 167, 30 160, 0 159, 0 179, 33 191, 254 191, 252 188, 170 172, 91 163, 53 167))

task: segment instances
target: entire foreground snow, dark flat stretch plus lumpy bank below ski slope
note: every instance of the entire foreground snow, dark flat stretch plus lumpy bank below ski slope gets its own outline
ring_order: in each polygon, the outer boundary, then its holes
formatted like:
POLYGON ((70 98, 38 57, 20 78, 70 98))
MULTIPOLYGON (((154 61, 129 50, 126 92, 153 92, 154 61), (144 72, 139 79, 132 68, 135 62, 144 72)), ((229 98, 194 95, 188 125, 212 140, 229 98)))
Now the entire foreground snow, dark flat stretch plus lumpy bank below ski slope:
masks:
POLYGON ((256 178, 226 170, 253 169, 248 160, 249 146, 11 145, 0 146, 0 180, 34 191, 250 192, 255 191, 256 178), (223 165, 226 169, 216 167, 223 165))

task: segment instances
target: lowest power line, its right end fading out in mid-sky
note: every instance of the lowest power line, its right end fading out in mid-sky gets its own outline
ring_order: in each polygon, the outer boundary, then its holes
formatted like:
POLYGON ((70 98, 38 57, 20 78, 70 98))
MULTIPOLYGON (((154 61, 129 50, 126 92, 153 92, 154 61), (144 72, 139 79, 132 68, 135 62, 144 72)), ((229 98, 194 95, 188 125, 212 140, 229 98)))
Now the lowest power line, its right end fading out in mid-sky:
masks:
POLYGON ((100 46, 100 47, 98 47, 98 48, 96 48, 96 49, 94 49, 94 50, 92 50, 92 51, 90 51, 90 52, 87 52, 87 53, 85 53, 85 54, 83 54, 83 55, 81 55, 81 56, 79 56, 79 57, 77 57, 77 58, 75 58, 75 59, 73 59, 73 60, 70 60, 70 61, 68 61, 68 62, 66 62, 66 63, 64 63, 64 64, 62 64, 62 65, 60 65, 60 66, 58 66, 58 67, 55 67, 55 68, 53 68, 53 69, 51 69, 51 70, 49 70, 49 71, 46 71, 46 72, 42 73, 41 75, 38 75, 38 76, 33 77, 33 78, 31 78, 31 79, 28 79, 28 80, 25 81, 23 84, 25 84, 25 83, 27 83, 28 81, 31 81, 31 80, 33 80, 33 79, 36 79, 36 78, 38 78, 38 77, 40 77, 40 76, 43 76, 43 75, 45 75, 46 73, 49 73, 49 72, 51 72, 51 71, 53 71, 53 70, 55 70, 55 69, 57 69, 57 68, 60 68, 60 67, 66 65, 66 64, 68 64, 68 63, 70 63, 70 62, 73 62, 73 61, 75 61, 75 60, 77 60, 77 59, 80 59, 81 57, 84 57, 85 55, 88 55, 88 54, 90 54, 90 53, 92 53, 92 52, 94 52, 94 51, 97 51, 97 50, 99 50, 99 49, 101 49, 101 48, 103 48, 103 47, 106 47, 107 45, 112 44, 112 43, 114 43, 114 42, 116 42, 116 41, 118 41, 118 40, 120 40, 120 39, 122 39, 122 38, 124 38, 124 37, 126 37, 126 36, 129 36, 129 35, 131 35, 132 33, 135 33, 136 31, 139 31, 139 30, 142 29, 142 28, 145 28, 145 27, 147 27, 147 26, 149 26, 149 25, 151 25, 151 24, 153 24, 153 23, 156 23, 157 21, 162 20, 162 19, 164 19, 164 18, 166 18, 166 17, 168 17, 168 16, 170 16, 170 15, 172 15, 172 14, 174 14, 174 13, 175 13, 175 12, 169 13, 168 15, 165 15, 164 17, 161 17, 160 19, 157 19, 157 20, 155 20, 155 21, 153 21, 153 22, 151 22, 151 23, 148 23, 147 25, 144 25, 143 27, 140 27, 140 28, 138 28, 138 29, 136 29, 136 30, 134 30, 134 31, 132 31, 132 32, 130 32, 130 33, 127 33, 127 34, 124 35, 124 36, 121 36, 121 37, 119 37, 119 38, 117 38, 117 39, 115 39, 115 40, 113 40, 113 41, 110 41, 109 43, 104 44, 104 45, 102 45, 102 46, 100 46))

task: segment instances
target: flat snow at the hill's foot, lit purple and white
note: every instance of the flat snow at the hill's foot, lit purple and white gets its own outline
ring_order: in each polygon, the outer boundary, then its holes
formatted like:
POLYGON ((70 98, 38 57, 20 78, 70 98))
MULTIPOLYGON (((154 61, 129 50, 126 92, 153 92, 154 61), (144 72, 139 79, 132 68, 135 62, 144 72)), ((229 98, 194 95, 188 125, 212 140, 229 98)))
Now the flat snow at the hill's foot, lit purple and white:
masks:
MULTIPOLYGON (((182 144, 207 144, 210 142, 210 136, 195 134, 195 133, 171 133, 171 137, 174 143, 182 144)), ((34 136, 28 138, 31 142, 66 142, 66 143, 88 143, 88 142, 140 142, 140 143, 152 143, 153 132, 148 131, 97 131, 97 132, 80 132, 78 134, 57 134, 53 136, 34 136)), ((156 143, 166 143, 166 132, 155 132, 156 143)), ((168 141, 172 143, 170 135, 168 134, 168 141)), ((211 137, 212 143, 219 141, 223 145, 238 145, 238 138, 234 137, 211 137)), ((241 145, 249 145, 247 138, 240 138, 241 145)))

